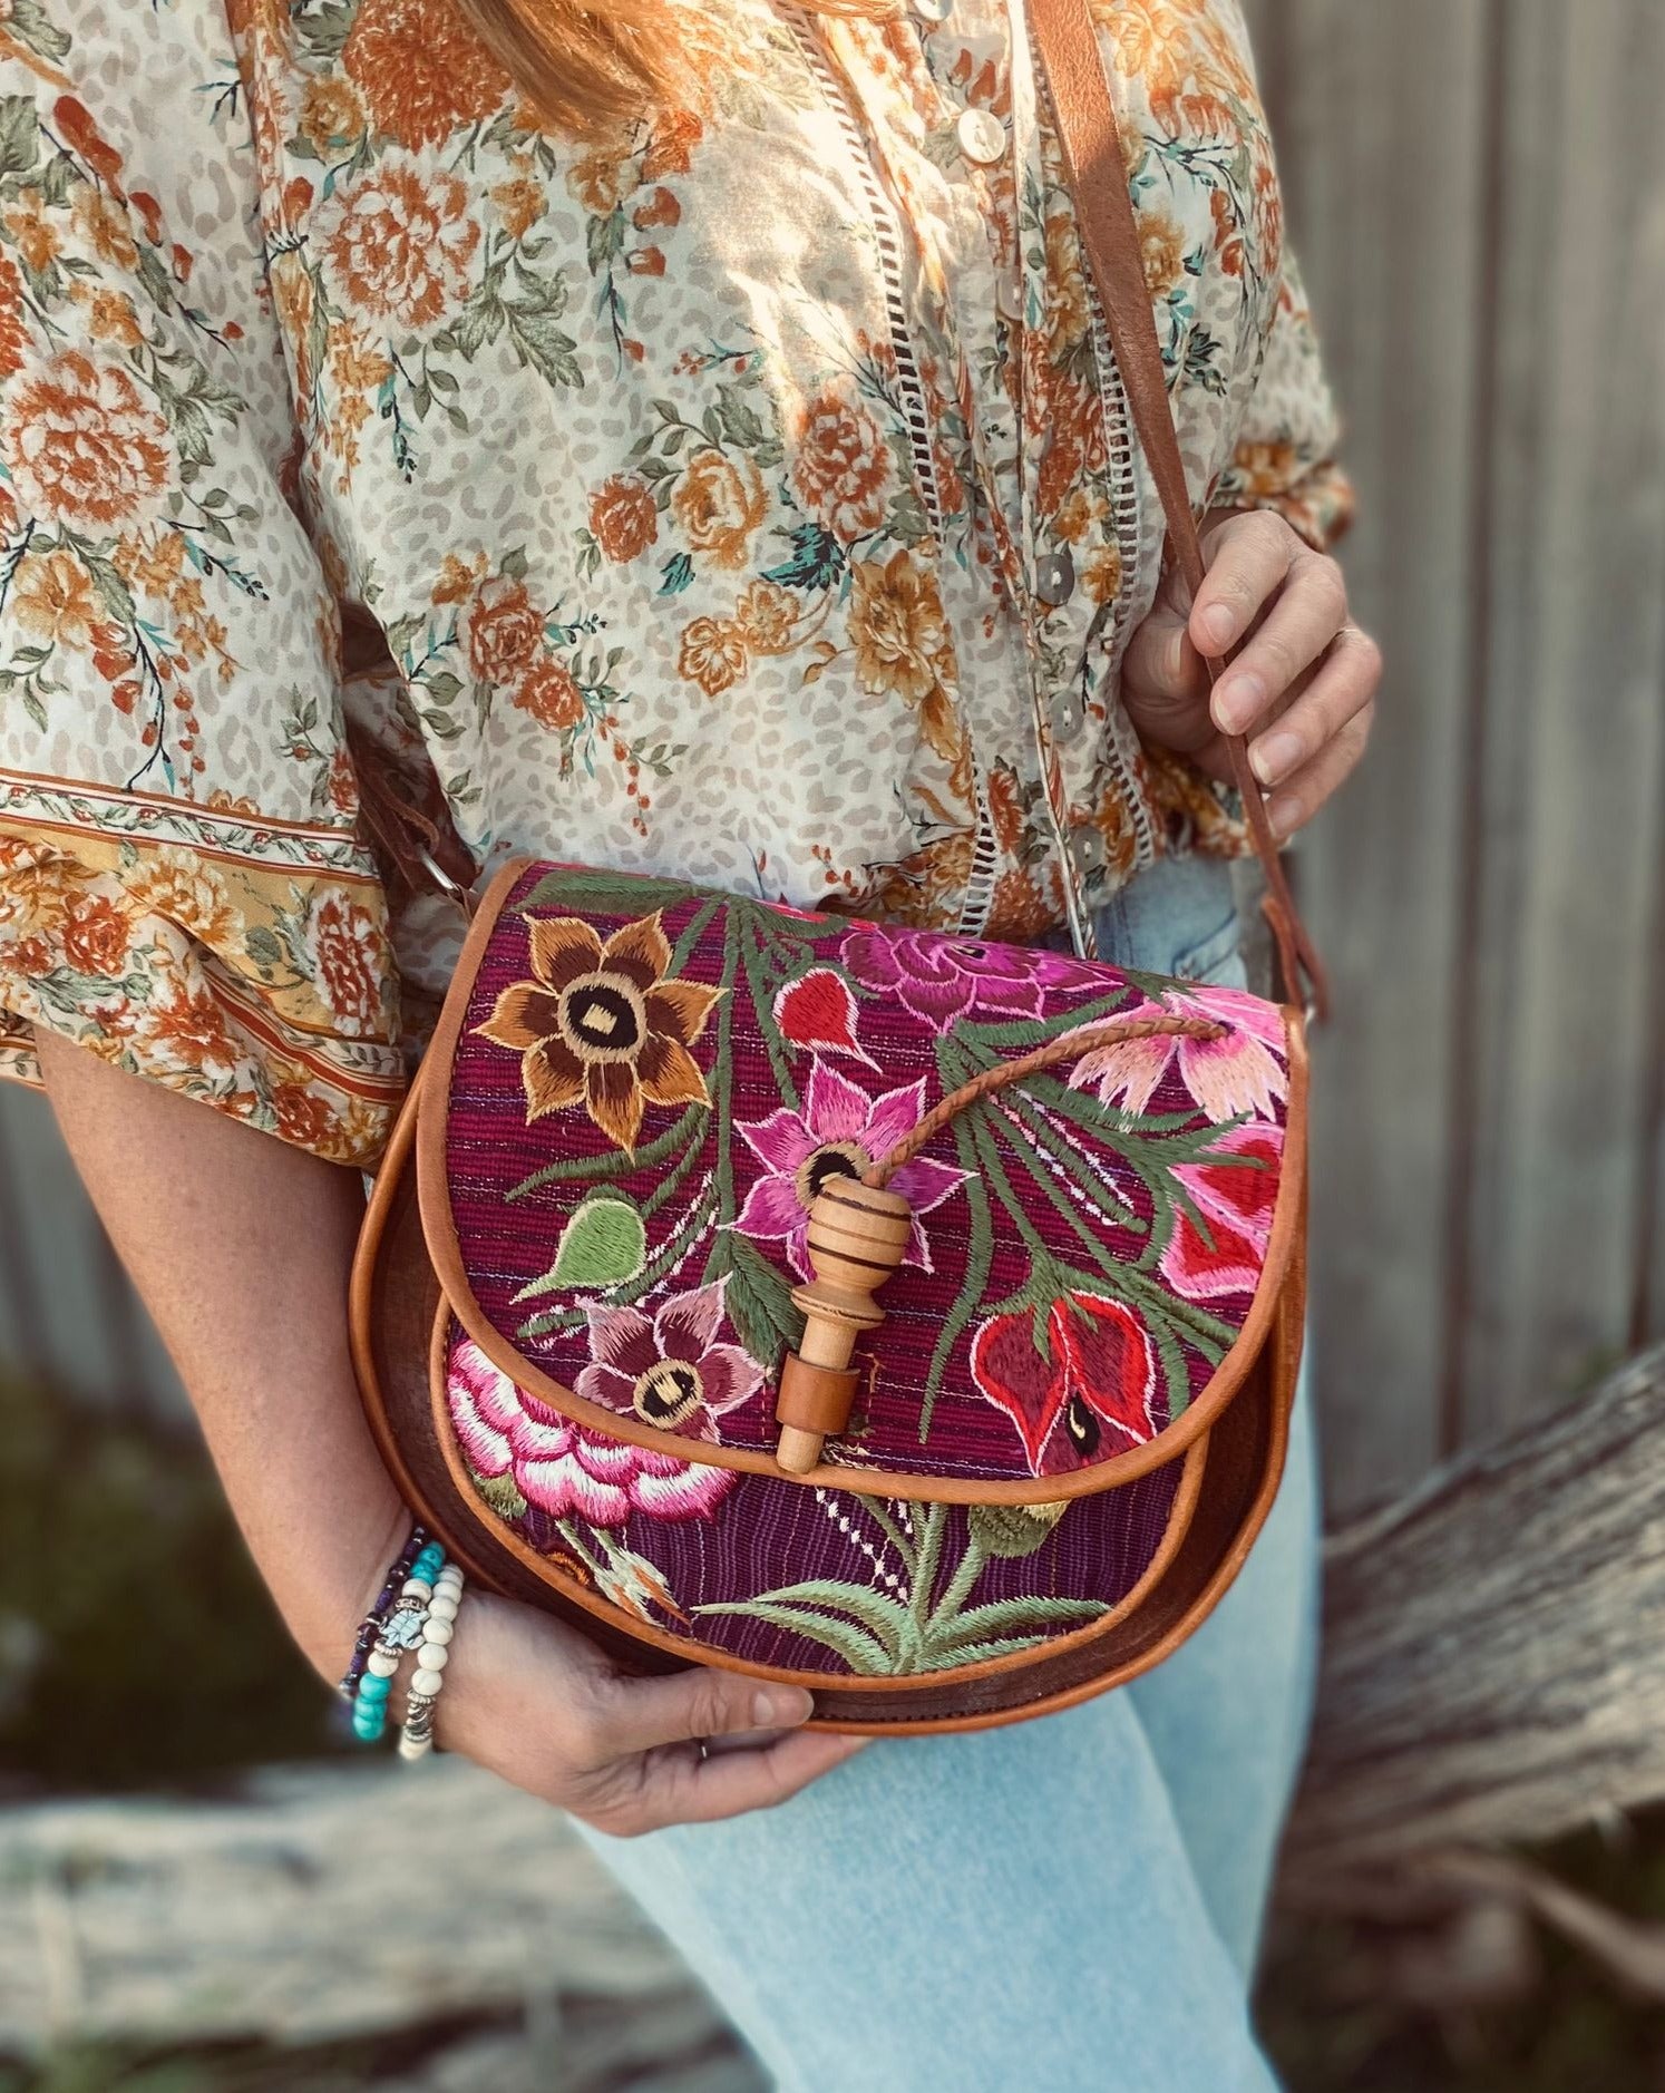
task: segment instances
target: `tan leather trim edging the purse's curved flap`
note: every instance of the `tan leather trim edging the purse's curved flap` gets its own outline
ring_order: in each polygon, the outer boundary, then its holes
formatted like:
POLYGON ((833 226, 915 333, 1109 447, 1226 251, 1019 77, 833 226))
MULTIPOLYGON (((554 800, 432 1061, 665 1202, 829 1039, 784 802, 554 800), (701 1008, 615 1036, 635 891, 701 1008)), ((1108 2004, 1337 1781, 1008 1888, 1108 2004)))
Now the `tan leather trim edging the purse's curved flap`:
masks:
MULTIPOLYGON (((433 1258, 439 1285, 452 1302, 458 1323, 462 1323, 500 1373, 506 1373, 529 1394, 548 1402, 550 1409, 561 1411, 575 1423, 588 1425, 592 1432, 607 1432, 613 1438, 630 1440, 634 1446, 651 1446, 671 1459, 686 1461, 688 1440, 678 1438, 674 1432, 661 1432, 638 1417, 619 1417, 615 1411, 605 1411, 594 1402, 586 1402, 584 1396, 565 1388, 561 1381, 552 1379, 538 1365, 533 1365, 533 1360, 525 1358, 525 1354, 521 1354, 515 1344, 510 1344, 510 1340, 506 1340, 492 1325, 485 1310, 475 1300, 475 1291, 469 1285, 469 1273, 462 1262, 462 1250, 456 1239, 450 1185, 446 1183, 446 1120, 450 1107, 452 1070, 456 1065, 456 1046, 485 946, 498 917, 502 915, 504 902, 515 887, 515 881, 529 862, 531 860, 527 858, 517 858, 506 864, 481 898, 479 913, 469 929, 469 942, 462 946, 462 957, 458 959, 456 977, 452 980, 446 996, 446 1009, 441 1011, 439 1026, 433 1034, 433 1044, 429 1046, 427 1061, 423 1063, 423 1105, 416 1120, 416 1187, 423 1210, 423 1233, 427 1235, 429 1256, 433 1258)), ((1265 1247, 1261 1281, 1255 1289, 1255 1300, 1249 1306, 1242 1329, 1238 1331, 1232 1348, 1226 1352, 1226 1358, 1219 1363, 1213 1379, 1199 1396, 1192 1398, 1184 1415, 1167 1425, 1167 1430, 1159 1432, 1157 1438, 1146 1440, 1144 1446, 1134 1446, 1109 1461, 1100 1461, 1094 1467, 1079 1467, 1067 1476, 1029 1476, 1019 1480, 929 1476, 908 1469, 853 1467, 839 1461, 822 1461, 818 1467, 799 1476, 780 1467, 772 1453, 761 1448, 753 1450, 749 1446, 703 1446, 701 1461, 711 1467, 734 1467, 753 1476, 778 1476, 786 1482, 805 1484, 809 1488, 858 1490, 868 1496, 929 1499, 948 1505, 1046 1505, 1067 1496, 1090 1496, 1096 1490, 1119 1488, 1123 1482, 1132 1482, 1138 1476, 1150 1473, 1153 1467, 1161 1467, 1165 1461, 1178 1459, 1215 1423, 1259 1358, 1261 1346, 1272 1333, 1278 1314, 1278 1298, 1303 1233, 1303 1185, 1307 1164, 1305 1023, 1299 1011, 1286 1007, 1284 1026, 1288 1034, 1288 1124, 1284 1130, 1278 1203, 1272 1216, 1272 1235, 1265 1247)))

